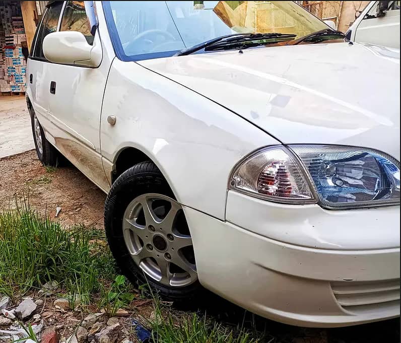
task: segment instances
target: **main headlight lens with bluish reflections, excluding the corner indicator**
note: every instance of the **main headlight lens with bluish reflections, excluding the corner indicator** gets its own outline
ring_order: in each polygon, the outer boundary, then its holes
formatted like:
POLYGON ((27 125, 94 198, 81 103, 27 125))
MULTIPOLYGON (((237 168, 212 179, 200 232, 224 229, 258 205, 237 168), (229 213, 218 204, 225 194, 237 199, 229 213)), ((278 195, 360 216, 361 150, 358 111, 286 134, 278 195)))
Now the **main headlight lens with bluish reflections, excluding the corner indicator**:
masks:
POLYGON ((291 146, 313 180, 323 207, 348 209, 399 203, 399 163, 371 150, 291 146))

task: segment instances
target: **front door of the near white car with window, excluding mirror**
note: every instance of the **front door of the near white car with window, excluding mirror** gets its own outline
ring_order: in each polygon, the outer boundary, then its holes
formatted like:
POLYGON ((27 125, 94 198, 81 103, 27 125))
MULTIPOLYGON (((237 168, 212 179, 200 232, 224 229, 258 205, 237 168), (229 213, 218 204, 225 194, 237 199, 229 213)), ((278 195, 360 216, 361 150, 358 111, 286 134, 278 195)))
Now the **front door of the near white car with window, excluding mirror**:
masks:
MULTIPOLYGON (((84 2, 64 4, 59 31, 78 31, 89 44, 101 44, 92 36, 84 2)), ((103 53, 104 55, 104 53, 103 53)), ((100 155, 100 114, 110 60, 103 56, 99 67, 52 63, 47 84, 49 133, 55 147, 104 191, 110 185, 100 155)))

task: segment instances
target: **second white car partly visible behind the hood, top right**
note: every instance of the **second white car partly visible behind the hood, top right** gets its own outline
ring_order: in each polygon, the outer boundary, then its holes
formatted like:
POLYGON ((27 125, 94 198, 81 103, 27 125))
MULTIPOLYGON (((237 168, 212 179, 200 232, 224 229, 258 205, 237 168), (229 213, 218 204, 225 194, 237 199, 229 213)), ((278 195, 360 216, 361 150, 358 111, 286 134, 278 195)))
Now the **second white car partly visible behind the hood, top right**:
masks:
POLYGON ((371 1, 346 37, 354 42, 399 49, 399 1, 371 1))

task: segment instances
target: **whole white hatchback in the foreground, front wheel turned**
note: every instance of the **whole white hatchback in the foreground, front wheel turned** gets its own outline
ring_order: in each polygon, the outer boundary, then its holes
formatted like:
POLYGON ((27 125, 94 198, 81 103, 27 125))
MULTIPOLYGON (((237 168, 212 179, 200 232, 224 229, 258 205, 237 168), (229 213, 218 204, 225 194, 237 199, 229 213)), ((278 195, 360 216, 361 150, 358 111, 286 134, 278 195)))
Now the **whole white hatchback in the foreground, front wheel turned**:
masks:
POLYGON ((49 2, 27 75, 39 159, 108 193, 131 281, 294 325, 399 316, 399 53, 294 2, 49 2))

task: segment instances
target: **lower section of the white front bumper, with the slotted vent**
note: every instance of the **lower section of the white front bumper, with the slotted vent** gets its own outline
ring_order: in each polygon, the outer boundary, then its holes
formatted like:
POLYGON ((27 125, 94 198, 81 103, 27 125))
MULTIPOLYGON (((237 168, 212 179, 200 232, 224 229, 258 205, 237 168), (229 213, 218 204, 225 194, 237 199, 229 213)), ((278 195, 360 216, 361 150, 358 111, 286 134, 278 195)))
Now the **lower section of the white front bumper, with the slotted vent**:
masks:
MULTIPOLYGON (((399 316, 399 247, 299 246, 190 208, 184 212, 200 283, 241 307, 269 319, 310 327, 399 316)), ((275 220, 282 219, 271 218, 271 225, 275 220)), ((298 219, 294 216, 293 220, 298 219)), ((394 230, 399 231, 399 226, 394 230)))

